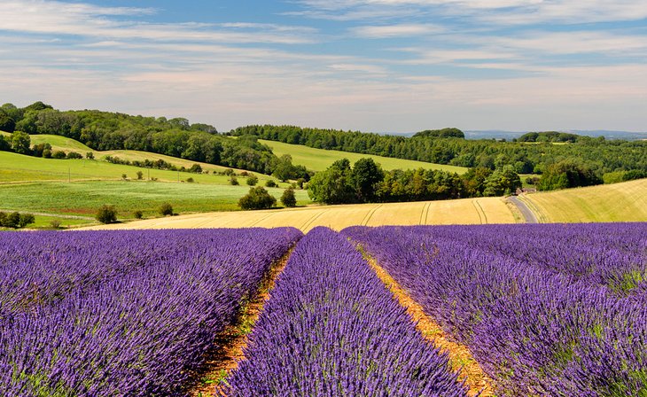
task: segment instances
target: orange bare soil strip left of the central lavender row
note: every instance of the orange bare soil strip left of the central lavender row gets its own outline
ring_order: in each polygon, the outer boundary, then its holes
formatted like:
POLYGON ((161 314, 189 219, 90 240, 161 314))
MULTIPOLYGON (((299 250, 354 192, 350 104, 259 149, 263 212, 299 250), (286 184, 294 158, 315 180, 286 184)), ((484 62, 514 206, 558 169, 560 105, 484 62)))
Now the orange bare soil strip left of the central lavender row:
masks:
POLYGON ((277 276, 281 274, 294 247, 278 261, 274 262, 268 274, 261 281, 258 292, 248 300, 236 323, 225 327, 214 339, 214 352, 209 354, 205 369, 196 375, 196 384, 186 395, 195 397, 213 396, 215 387, 227 378, 232 370, 238 368, 238 362, 245 359, 243 350, 247 346, 247 337, 253 329, 265 302, 269 300, 277 276))

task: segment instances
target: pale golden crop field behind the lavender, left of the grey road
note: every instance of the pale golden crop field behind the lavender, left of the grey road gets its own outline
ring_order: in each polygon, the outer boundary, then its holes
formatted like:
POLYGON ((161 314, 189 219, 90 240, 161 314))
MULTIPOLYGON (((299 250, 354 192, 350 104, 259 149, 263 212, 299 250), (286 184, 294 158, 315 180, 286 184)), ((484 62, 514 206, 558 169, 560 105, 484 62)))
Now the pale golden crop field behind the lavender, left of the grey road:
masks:
POLYGON ((293 226, 304 232, 316 226, 342 230, 348 226, 514 223, 500 198, 419 201, 413 203, 306 206, 300 208, 218 212, 172 216, 91 229, 275 228, 293 226))

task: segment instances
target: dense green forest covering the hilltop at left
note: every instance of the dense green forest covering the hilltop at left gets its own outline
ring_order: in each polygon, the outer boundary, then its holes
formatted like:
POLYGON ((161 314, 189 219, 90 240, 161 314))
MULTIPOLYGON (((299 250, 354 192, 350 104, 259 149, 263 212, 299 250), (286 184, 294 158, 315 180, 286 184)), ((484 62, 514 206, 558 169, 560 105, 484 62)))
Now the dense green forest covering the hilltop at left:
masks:
MULTIPOLYGON (((271 149, 260 144, 255 136, 231 139, 218 134, 214 126, 191 124, 183 118, 97 110, 61 112, 43 102, 24 108, 5 104, 0 107, 0 130, 66 136, 97 151, 155 152, 263 174, 271 174, 279 163, 271 149)), ((8 150, 10 144, 0 140, 0 150, 3 148, 8 150)))

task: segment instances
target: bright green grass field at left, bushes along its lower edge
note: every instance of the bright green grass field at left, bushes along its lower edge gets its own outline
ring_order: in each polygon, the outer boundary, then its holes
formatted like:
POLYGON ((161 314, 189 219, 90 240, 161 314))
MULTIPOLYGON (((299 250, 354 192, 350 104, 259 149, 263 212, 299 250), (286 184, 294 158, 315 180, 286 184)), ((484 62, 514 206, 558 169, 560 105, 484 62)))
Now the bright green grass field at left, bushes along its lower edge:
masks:
MULTIPOLYGON (((234 211, 247 191, 249 186, 145 181, 5 183, 0 185, 0 210, 93 217, 107 204, 116 207, 120 220, 129 220, 134 219, 136 210, 144 217, 160 216, 157 211, 166 202, 178 214, 234 211)), ((283 193, 279 188, 268 191, 277 199, 283 193)), ((299 206, 310 203, 307 191, 295 194, 299 206)), ((61 221, 65 224, 72 220, 61 221)), ((84 223, 81 221, 74 220, 74 224, 84 223)))

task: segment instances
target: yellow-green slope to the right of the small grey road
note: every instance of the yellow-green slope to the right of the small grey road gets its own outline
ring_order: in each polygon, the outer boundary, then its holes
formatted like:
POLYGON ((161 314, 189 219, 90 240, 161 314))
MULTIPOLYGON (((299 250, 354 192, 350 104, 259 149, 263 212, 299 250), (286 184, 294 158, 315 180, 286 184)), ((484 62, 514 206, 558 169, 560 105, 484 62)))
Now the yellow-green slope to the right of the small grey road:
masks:
POLYGON ((647 222, 647 179, 527 194, 542 222, 647 222))

